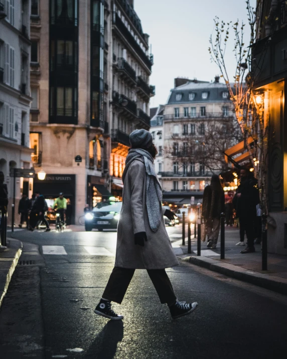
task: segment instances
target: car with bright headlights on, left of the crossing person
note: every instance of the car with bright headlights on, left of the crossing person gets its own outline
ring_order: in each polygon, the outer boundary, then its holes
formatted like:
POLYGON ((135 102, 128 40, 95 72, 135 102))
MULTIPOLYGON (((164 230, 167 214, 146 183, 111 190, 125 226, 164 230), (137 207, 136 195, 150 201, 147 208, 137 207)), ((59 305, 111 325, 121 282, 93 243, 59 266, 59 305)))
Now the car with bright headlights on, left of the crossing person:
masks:
POLYGON ((92 211, 85 214, 85 230, 90 232, 93 228, 116 229, 122 202, 99 202, 92 211))

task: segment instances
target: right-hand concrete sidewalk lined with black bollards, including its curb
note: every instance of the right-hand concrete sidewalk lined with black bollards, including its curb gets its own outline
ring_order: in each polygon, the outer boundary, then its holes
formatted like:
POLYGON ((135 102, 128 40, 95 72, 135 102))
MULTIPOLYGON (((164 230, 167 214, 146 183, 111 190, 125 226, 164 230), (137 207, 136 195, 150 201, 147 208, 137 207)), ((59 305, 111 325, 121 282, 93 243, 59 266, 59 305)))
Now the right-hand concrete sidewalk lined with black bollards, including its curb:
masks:
POLYGON ((199 257, 195 239, 192 239, 192 254, 187 254, 187 246, 182 246, 182 241, 173 243, 173 247, 181 260, 287 295, 287 256, 268 254, 268 270, 262 271, 261 246, 255 245, 255 253, 241 254, 245 247, 235 246, 238 242, 239 229, 225 227, 224 260, 220 259, 220 242, 215 250, 207 249, 206 242, 201 243, 199 257))

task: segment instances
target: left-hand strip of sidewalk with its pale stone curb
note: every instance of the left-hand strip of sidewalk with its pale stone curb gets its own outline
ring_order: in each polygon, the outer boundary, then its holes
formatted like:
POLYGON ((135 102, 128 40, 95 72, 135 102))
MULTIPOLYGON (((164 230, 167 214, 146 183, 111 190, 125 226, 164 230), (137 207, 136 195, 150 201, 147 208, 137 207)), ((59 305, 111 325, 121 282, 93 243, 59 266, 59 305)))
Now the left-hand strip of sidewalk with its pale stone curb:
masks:
POLYGON ((22 242, 7 238, 8 248, 0 253, 0 308, 22 253, 22 242))

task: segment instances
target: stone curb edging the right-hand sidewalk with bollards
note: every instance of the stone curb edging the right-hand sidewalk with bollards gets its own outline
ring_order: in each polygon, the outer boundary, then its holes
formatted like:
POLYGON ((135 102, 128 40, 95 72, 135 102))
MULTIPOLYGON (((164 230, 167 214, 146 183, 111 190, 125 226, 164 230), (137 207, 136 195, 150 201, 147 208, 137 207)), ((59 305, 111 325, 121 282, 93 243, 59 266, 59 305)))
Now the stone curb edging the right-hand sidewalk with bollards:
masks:
POLYGON ((234 266, 233 264, 224 263, 222 261, 203 256, 179 259, 181 261, 192 263, 196 266, 224 274, 225 276, 239 279, 240 281, 248 282, 259 287, 287 295, 287 279, 270 276, 265 273, 253 272, 245 268, 234 266))

